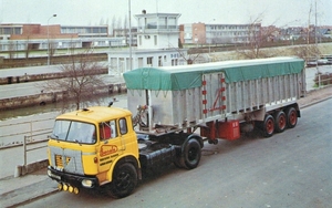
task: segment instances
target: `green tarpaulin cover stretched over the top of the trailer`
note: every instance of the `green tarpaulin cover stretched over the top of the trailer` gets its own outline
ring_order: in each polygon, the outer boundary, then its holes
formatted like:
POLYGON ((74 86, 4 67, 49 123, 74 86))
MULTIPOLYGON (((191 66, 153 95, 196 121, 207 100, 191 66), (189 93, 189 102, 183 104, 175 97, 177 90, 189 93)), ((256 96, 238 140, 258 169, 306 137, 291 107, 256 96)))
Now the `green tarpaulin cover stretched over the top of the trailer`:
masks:
POLYGON ((179 91, 198 87, 201 76, 225 73, 226 82, 239 82, 278 75, 297 74, 304 69, 298 58, 269 58, 224 61, 194 65, 139 67, 124 73, 128 90, 179 91))

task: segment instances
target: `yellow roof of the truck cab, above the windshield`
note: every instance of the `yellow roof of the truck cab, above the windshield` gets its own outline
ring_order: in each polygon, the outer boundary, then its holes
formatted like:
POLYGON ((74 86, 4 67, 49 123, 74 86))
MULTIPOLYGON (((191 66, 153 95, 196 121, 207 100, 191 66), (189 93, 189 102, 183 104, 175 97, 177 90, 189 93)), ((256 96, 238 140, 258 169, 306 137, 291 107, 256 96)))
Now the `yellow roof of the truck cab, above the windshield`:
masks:
POLYGON ((56 119, 72 119, 87 123, 101 123, 120 117, 132 116, 128 110, 120 107, 94 106, 62 114, 56 119))

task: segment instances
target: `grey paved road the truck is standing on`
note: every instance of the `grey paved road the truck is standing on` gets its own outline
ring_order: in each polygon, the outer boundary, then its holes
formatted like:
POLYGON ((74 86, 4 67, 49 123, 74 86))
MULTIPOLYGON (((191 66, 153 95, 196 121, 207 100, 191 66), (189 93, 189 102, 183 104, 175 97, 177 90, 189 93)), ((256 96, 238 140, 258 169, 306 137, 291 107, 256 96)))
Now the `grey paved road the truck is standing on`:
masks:
POLYGON ((331 207, 331 106, 330 98, 302 110, 295 128, 270 138, 207 144, 198 168, 170 166, 124 199, 58 193, 21 207, 331 207))

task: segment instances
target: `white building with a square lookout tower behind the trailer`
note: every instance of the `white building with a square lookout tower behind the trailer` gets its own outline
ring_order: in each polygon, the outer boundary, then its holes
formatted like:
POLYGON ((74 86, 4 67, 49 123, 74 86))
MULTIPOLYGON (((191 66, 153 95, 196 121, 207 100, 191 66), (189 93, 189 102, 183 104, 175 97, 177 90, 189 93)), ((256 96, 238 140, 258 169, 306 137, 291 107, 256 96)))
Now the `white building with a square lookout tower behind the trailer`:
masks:
POLYGON ((108 74, 122 74, 137 67, 187 64, 187 50, 178 48, 178 13, 136 14, 137 48, 110 51, 108 74), (131 64, 132 58, 132 64, 131 64))

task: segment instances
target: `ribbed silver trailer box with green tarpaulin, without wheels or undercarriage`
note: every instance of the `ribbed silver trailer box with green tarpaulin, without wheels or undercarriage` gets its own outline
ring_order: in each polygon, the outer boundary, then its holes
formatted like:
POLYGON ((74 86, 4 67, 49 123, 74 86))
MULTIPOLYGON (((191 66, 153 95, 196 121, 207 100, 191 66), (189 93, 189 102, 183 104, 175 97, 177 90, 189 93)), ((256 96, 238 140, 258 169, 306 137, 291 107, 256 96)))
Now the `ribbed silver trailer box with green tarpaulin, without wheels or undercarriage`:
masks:
POLYGON ((304 93, 303 67, 302 60, 287 58, 138 69, 124 74, 128 108, 134 113, 137 105, 149 105, 152 126, 237 118, 295 103, 304 93))

